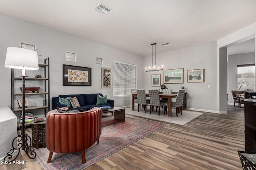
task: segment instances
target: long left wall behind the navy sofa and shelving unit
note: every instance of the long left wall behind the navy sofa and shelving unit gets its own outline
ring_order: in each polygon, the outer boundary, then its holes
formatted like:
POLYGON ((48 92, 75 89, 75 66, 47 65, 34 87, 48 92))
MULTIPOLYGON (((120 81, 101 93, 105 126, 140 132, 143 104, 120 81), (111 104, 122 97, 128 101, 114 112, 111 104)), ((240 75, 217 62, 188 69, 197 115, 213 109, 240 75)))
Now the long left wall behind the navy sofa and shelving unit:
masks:
POLYGON ((143 87, 143 70, 139 69, 143 68, 143 57, 139 55, 2 14, 0 23, 0 106, 11 106, 10 68, 4 66, 6 49, 20 47, 21 42, 36 45, 38 55, 42 55, 38 56, 39 63, 50 57, 50 105, 52 97, 59 94, 84 93, 108 95, 115 106, 131 105, 130 96, 113 98, 112 88, 101 88, 101 66, 96 65, 96 57, 103 58, 103 67, 113 68, 113 61, 138 65, 138 87, 143 87), (66 51, 76 53, 76 62, 65 60, 66 51), (63 64, 92 68, 92 86, 63 86, 63 64))

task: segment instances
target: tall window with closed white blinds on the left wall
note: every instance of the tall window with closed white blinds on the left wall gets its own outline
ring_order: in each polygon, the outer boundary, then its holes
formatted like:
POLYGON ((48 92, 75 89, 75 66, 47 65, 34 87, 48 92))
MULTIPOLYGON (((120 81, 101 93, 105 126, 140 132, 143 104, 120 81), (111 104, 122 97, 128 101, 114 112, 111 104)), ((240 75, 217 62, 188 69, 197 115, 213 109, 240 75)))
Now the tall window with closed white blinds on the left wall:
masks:
POLYGON ((113 96, 129 96, 137 88, 137 66, 113 62, 113 96))

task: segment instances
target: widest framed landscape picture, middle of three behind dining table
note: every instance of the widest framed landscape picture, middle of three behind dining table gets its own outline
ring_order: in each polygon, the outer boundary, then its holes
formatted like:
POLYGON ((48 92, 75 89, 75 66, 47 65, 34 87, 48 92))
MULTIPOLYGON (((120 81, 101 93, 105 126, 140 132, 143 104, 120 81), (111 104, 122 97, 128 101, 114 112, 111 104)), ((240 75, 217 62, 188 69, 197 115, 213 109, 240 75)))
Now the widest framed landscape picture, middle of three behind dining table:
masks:
POLYGON ((164 83, 183 83, 183 68, 164 70, 164 83))

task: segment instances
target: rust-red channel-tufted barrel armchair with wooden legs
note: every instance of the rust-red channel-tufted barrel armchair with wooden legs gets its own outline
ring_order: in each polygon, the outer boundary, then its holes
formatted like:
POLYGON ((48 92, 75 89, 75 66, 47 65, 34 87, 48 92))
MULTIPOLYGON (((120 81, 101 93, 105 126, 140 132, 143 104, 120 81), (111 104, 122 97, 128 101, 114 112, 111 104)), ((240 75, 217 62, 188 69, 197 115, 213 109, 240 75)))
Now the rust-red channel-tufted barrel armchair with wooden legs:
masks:
POLYGON ((85 149, 96 141, 99 144, 102 120, 101 109, 94 107, 88 111, 59 113, 57 109, 46 114, 46 147, 50 150, 47 163, 53 152, 72 153, 81 151, 82 163, 86 163, 85 149))

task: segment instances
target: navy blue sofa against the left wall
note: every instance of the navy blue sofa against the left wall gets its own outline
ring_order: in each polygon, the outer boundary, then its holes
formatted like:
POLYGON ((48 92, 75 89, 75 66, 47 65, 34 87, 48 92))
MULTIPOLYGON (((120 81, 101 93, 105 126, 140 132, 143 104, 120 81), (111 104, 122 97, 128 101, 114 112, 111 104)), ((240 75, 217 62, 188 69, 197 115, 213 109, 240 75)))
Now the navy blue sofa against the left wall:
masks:
POLYGON ((93 107, 102 107, 102 106, 111 106, 114 107, 114 100, 108 99, 108 104, 101 104, 101 105, 96 105, 97 103, 97 96, 100 95, 103 97, 101 93, 98 94, 68 94, 68 95, 59 95, 58 97, 53 97, 52 98, 52 109, 57 109, 57 107, 67 107, 64 104, 60 104, 59 102, 59 97, 60 98, 67 98, 71 97, 74 98, 76 97, 80 107, 76 108, 70 108, 70 110, 79 110, 83 109, 84 111, 90 110, 93 107))

